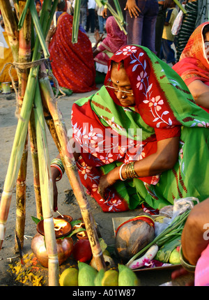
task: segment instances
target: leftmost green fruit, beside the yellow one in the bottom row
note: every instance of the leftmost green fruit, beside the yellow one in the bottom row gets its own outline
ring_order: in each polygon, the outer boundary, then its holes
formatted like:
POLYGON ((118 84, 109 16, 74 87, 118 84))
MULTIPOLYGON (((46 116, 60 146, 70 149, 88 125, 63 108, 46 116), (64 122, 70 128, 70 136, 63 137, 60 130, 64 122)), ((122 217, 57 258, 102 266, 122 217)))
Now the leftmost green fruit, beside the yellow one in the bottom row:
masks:
POLYGON ((93 269, 93 267, 89 266, 85 262, 78 261, 78 286, 79 287, 92 287, 94 286, 95 276, 97 276, 98 271, 93 269))

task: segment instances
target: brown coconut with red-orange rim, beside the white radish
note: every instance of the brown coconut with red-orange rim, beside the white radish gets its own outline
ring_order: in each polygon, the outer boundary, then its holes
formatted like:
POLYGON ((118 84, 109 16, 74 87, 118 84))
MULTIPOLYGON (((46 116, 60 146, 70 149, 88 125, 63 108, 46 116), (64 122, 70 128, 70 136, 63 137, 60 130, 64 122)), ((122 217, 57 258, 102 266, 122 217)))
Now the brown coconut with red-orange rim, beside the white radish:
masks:
POLYGON ((116 230, 116 253, 126 262, 155 238, 155 223, 148 216, 138 216, 122 223, 116 230))

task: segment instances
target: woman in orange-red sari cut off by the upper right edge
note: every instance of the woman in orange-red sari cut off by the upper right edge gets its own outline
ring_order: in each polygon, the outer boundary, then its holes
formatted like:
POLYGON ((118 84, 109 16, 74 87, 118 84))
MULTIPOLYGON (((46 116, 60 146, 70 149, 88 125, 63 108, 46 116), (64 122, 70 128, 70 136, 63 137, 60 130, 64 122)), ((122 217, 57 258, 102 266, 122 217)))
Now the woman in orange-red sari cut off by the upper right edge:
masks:
POLYGON ((209 112, 209 22, 197 27, 173 70, 182 77, 195 103, 209 112))

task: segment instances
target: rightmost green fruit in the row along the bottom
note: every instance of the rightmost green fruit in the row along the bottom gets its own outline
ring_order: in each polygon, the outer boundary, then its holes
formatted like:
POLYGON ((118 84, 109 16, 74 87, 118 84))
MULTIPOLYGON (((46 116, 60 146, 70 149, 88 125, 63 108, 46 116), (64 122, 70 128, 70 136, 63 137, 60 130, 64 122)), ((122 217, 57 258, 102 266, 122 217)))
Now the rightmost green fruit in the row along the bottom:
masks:
POLYGON ((137 275, 126 267, 124 264, 118 264, 118 287, 137 287, 139 286, 139 278, 137 275))

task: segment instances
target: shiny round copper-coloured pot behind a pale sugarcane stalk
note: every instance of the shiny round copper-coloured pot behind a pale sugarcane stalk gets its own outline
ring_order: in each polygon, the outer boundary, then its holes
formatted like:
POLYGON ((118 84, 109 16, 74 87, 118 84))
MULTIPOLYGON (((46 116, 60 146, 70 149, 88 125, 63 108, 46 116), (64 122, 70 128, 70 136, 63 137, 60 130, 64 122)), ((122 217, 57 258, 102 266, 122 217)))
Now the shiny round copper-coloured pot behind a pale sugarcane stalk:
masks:
MULTIPOLYGON (((56 239, 57 254, 59 264, 65 262, 72 253, 73 241, 71 237, 56 239)), ((48 267, 48 253, 45 247, 45 238, 42 234, 37 233, 31 241, 31 249, 43 267, 48 267)))

